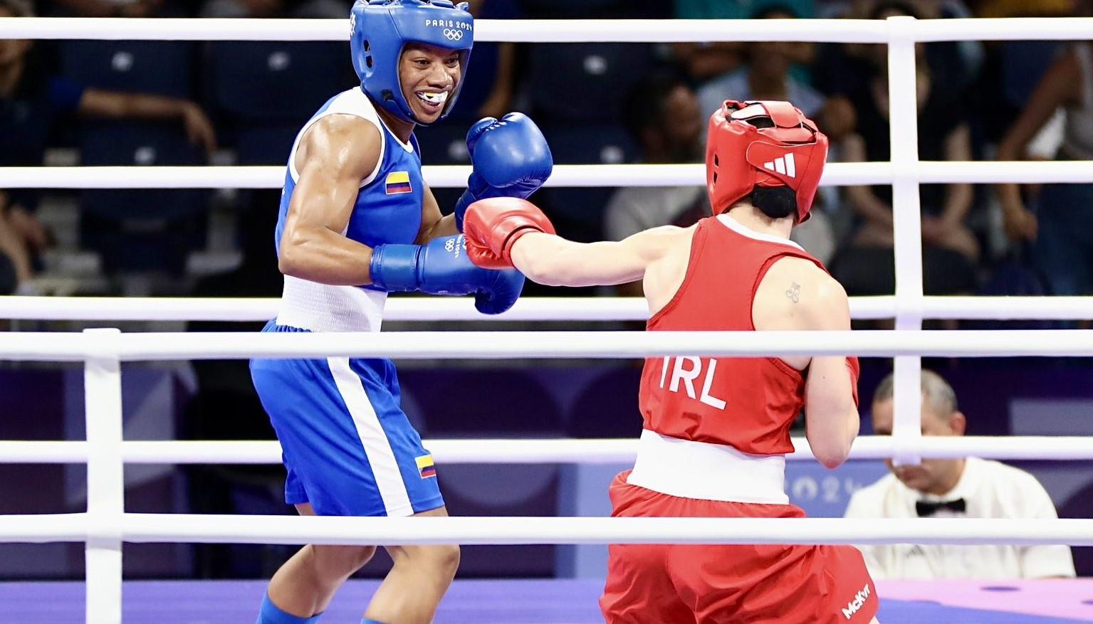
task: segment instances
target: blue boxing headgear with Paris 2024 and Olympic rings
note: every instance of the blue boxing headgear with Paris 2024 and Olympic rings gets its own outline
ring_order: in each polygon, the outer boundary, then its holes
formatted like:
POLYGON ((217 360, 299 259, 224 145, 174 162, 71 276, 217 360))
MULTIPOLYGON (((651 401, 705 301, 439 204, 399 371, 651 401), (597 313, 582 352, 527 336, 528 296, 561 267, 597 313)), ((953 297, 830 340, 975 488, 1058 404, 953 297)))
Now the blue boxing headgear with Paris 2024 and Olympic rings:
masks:
POLYGON ((451 0, 356 0, 350 12, 350 52, 361 89, 377 105, 403 121, 421 123, 402 94, 399 57, 407 44, 427 44, 459 52, 459 83, 440 113, 443 119, 463 86, 474 17, 467 2, 451 0))

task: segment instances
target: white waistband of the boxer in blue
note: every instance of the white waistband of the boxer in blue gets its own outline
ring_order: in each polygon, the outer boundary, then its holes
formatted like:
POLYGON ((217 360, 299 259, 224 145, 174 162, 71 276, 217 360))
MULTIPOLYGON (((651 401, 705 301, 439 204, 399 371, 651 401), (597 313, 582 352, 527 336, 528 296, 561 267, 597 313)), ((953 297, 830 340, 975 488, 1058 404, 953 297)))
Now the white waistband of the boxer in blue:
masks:
POLYGON ((387 293, 284 276, 279 325, 310 331, 379 331, 387 293))

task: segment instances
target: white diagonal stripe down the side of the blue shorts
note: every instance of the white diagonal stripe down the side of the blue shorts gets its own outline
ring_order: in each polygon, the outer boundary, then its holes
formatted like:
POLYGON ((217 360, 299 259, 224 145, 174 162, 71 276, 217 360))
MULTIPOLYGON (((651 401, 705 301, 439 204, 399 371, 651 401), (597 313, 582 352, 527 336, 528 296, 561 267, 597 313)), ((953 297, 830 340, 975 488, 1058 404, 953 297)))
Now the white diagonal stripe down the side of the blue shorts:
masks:
POLYGON ((410 504, 410 495, 407 493, 406 482, 402 481, 402 472, 399 471, 399 463, 395 459, 395 451, 391 450, 391 443, 384 433, 383 425, 379 424, 379 416, 368 400, 367 392, 364 391, 364 384, 356 373, 349 365, 349 357, 328 357, 327 364, 333 375, 338 392, 349 413, 353 416, 353 424, 356 426, 356 435, 361 437, 361 446, 372 464, 372 473, 376 478, 376 486, 379 488, 379 496, 384 499, 384 508, 388 516, 411 516, 413 506, 410 504))

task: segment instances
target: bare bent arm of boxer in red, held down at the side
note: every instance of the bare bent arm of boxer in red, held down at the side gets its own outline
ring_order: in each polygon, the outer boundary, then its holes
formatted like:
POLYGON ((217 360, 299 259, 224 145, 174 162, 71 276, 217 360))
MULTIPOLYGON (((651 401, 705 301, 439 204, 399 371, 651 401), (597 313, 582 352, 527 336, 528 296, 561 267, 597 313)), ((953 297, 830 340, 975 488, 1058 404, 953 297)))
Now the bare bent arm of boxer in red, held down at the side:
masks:
MULTIPOLYGON (((802 281, 801 318, 804 330, 850 329, 850 306, 846 291, 833 278, 815 270, 815 278, 802 281)), ((860 416, 854 404, 854 388, 846 357, 813 357, 804 380, 806 437, 812 454, 824 468, 846 461, 858 435, 860 416)))

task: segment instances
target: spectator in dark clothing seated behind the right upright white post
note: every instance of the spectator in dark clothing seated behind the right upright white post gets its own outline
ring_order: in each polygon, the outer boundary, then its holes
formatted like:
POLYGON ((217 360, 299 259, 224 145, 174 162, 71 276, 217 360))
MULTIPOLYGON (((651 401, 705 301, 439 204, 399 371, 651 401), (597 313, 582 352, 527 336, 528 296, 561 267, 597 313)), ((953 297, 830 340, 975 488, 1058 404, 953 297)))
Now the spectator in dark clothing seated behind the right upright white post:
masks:
MULTIPOLYGON (((915 15, 903 2, 881 2, 870 15, 915 15)), ((872 75, 851 97, 857 132, 843 141, 843 161, 889 161, 888 49, 873 46, 872 75)), ((939 82, 916 46, 918 93, 918 157, 922 161, 971 161, 972 140, 961 94, 939 82)), ((895 292, 892 231, 892 187, 847 187, 858 216, 850 246, 836 256, 832 271, 851 295, 895 292)), ((969 293, 976 289, 979 245, 964 223, 972 208, 972 185, 922 185, 924 286, 927 294, 969 293)))

